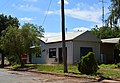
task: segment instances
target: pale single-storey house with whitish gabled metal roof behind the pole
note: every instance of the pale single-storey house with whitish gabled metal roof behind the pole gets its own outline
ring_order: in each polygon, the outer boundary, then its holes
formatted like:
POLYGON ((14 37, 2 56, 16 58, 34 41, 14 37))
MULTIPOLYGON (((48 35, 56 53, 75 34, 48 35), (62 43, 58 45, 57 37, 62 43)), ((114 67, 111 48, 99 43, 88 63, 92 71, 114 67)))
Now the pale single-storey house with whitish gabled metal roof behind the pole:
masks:
MULTIPOLYGON (((62 63, 62 36, 41 39, 41 52, 32 56, 32 63, 52 64, 62 63)), ((92 51, 97 61, 100 61, 101 40, 90 31, 66 33, 67 63, 76 64, 82 56, 92 51)))

